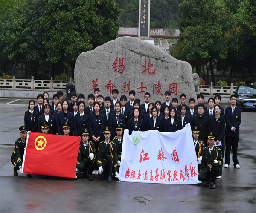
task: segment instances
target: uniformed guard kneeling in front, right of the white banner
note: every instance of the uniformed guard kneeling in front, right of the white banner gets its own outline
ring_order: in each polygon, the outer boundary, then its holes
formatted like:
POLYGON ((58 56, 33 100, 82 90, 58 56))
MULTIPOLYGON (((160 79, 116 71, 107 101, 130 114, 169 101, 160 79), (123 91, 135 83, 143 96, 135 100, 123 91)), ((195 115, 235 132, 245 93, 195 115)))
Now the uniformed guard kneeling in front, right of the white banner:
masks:
POLYGON ((202 152, 202 160, 198 159, 200 166, 200 173, 198 175, 199 181, 207 181, 207 186, 215 189, 215 180, 218 175, 219 166, 223 165, 221 149, 214 146, 216 134, 215 132, 207 132, 208 147, 204 147, 202 152))

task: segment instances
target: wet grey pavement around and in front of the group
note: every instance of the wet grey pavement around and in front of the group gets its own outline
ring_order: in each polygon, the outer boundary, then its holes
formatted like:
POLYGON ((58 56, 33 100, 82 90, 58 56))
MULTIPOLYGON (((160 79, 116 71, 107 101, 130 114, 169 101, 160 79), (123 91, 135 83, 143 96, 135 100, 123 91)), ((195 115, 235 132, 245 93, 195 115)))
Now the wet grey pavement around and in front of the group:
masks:
MULTIPOLYGON (((256 112, 242 112, 240 169, 223 168, 216 189, 195 185, 107 183, 26 175, 13 176, 10 157, 29 100, 0 98, 0 212, 255 212, 256 112), (11 101, 10 104, 8 104, 11 101), (7 103, 7 104, 6 104, 7 103)), ((224 104, 222 107, 226 108, 224 104)), ((231 165, 231 164, 230 164, 231 165)), ((58 171, 56 171, 58 173, 58 171)), ((19 173, 20 174, 20 173, 19 173)))

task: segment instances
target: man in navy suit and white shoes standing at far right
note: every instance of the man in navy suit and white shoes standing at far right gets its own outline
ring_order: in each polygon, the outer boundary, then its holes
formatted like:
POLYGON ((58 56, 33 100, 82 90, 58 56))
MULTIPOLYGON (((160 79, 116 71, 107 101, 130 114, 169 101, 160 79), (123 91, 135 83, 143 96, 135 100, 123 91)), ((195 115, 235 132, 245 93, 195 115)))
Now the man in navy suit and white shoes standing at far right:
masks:
POLYGON ((239 141, 239 126, 241 124, 241 109, 236 107, 236 95, 230 97, 231 106, 225 110, 226 122, 226 155, 225 155, 225 168, 230 164, 230 150, 232 147, 232 160, 236 168, 240 168, 237 159, 237 147, 239 141))

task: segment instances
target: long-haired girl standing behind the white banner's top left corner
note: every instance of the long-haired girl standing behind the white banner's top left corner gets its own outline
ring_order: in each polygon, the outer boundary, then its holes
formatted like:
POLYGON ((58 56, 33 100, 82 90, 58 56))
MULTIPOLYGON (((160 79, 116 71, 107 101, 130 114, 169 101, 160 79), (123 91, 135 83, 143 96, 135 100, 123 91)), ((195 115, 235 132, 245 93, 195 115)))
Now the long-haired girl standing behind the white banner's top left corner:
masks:
POLYGON ((133 115, 127 123, 126 129, 129 130, 129 135, 134 131, 145 131, 144 121, 141 118, 140 109, 135 107, 133 110, 133 115))

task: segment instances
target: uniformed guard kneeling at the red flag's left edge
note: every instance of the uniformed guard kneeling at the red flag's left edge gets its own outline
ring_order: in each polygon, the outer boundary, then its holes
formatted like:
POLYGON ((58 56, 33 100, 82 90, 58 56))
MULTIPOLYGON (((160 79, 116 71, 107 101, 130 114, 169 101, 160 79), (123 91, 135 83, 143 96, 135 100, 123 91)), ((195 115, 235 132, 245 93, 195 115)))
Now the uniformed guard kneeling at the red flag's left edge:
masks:
MULTIPOLYGON (((15 141, 14 145, 14 151, 11 156, 11 161, 13 167, 13 175, 17 176, 17 170, 20 170, 20 173, 23 173, 22 170, 22 161, 23 161, 23 155, 24 155, 24 150, 26 147, 26 133, 28 131, 28 128, 26 126, 21 126, 19 128, 20 130, 20 138, 15 141)), ((27 174, 28 178, 31 178, 30 174, 27 174)))

